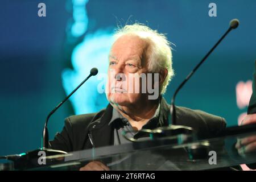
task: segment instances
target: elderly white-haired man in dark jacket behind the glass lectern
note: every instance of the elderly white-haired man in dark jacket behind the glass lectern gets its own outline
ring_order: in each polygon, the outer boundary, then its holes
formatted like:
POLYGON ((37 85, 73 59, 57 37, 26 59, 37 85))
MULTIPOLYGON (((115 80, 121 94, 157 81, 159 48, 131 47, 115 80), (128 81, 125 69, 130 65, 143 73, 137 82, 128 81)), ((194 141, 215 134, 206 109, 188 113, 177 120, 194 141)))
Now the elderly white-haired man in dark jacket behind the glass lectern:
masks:
MULTIPOLYGON (((106 86, 109 105, 98 113, 65 119, 63 131, 49 142, 51 148, 71 152, 123 144, 129 142, 123 139, 123 130, 130 131, 131 137, 140 139, 148 137, 140 132, 141 129, 168 125, 170 106, 162 94, 174 71, 166 36, 136 23, 119 29, 114 38, 106 86), (148 89, 150 86, 159 94, 152 97, 152 90, 148 89)), ((197 130, 199 138, 217 136, 226 126, 221 117, 185 107, 176 107, 176 116, 177 125, 192 127, 197 130)), ((100 162, 91 162, 81 168, 108 169, 100 162)))

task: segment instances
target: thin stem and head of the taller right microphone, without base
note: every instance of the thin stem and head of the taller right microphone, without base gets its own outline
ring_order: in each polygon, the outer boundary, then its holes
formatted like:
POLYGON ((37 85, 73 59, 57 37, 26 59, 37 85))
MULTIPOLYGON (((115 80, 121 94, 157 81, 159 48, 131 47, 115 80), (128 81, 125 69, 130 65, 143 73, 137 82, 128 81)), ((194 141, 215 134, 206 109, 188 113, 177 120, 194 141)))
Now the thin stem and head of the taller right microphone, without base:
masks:
POLYGON ((188 74, 188 76, 185 78, 183 82, 178 86, 178 88, 175 90, 174 96, 172 97, 171 101, 171 121, 169 125, 176 125, 176 110, 175 110, 175 98, 179 90, 185 85, 185 83, 191 78, 191 76, 197 71, 197 69, 200 67, 201 64, 204 63, 204 61, 207 59, 207 57, 210 55, 210 53, 213 52, 213 50, 220 44, 220 42, 225 38, 226 35, 232 30, 236 29, 239 25, 239 20, 238 19, 233 19, 230 21, 230 26, 229 29, 225 32, 225 34, 218 40, 218 42, 210 49, 210 51, 207 53, 207 55, 204 56, 204 58, 200 61, 199 64, 196 65, 196 67, 188 74))

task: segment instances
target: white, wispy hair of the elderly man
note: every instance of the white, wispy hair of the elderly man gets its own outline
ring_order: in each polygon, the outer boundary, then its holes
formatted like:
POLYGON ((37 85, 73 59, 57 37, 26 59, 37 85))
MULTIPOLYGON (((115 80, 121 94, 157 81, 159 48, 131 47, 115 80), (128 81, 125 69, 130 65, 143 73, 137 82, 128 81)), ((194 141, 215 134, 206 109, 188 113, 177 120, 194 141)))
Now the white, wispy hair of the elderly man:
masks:
POLYGON ((152 30, 141 23, 134 23, 124 27, 118 27, 114 33, 114 39, 117 40, 123 35, 136 35, 139 38, 146 40, 150 48, 148 49, 148 71, 153 73, 160 73, 161 70, 167 69, 168 73, 160 86, 160 93, 166 92, 167 85, 174 76, 174 69, 172 69, 172 52, 171 43, 168 42, 164 34, 159 34, 158 31, 152 30))

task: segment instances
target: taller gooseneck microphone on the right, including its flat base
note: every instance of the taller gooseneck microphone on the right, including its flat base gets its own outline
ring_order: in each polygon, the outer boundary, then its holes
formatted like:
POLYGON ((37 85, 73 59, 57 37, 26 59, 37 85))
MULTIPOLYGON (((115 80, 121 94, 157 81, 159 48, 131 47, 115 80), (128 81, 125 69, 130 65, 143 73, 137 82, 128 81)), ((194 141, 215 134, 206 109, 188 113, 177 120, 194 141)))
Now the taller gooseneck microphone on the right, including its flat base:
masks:
MULTIPOLYGON (((238 27, 238 25, 239 25, 239 20, 238 19, 233 19, 233 20, 230 21, 229 28, 225 32, 225 34, 222 35, 220 40, 218 40, 218 42, 203 57, 203 59, 200 61, 200 63, 196 65, 196 67, 192 70, 192 72, 190 72, 188 74, 188 76, 185 78, 185 80, 183 82, 181 82, 181 84, 175 90, 174 96, 172 97, 172 100, 171 100, 170 115, 168 117, 168 119, 169 119, 169 121, 168 121, 169 122, 169 126, 158 127, 156 129, 153 129, 153 130, 150 130, 150 131, 148 131, 148 130, 146 131, 145 130, 144 132, 150 133, 152 138, 170 137, 170 136, 179 135, 179 134, 191 135, 192 139, 197 138, 196 133, 192 129, 192 127, 176 125, 175 98, 176 98, 177 93, 179 92, 179 90, 181 88, 183 88, 183 86, 189 80, 189 78, 191 78, 191 76, 197 71, 197 69, 200 67, 200 65, 204 63, 204 61, 207 59, 207 57, 210 55, 210 53, 212 53, 213 50, 218 46, 218 44, 220 44, 220 42, 225 38, 225 36, 228 35, 228 33, 232 29, 236 29, 238 27)), ((189 138, 186 138, 186 139, 189 139, 189 138)), ((180 141, 179 140, 179 143, 180 142, 184 142, 184 141, 180 141)))

